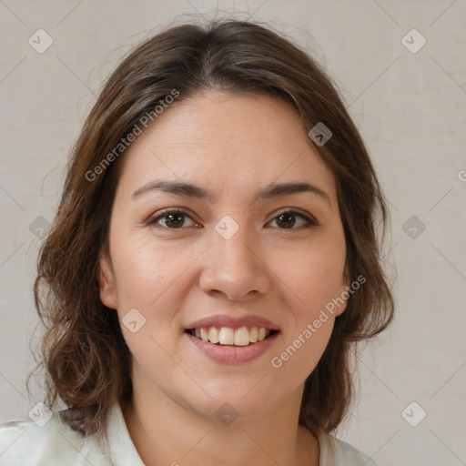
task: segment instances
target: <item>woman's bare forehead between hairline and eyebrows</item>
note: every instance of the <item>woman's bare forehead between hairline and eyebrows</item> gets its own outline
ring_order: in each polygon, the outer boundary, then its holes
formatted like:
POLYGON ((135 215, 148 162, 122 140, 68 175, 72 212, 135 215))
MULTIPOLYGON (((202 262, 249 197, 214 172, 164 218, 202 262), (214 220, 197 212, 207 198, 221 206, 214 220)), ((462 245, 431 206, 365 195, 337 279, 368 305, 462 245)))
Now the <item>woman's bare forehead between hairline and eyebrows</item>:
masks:
POLYGON ((220 91, 180 97, 128 147, 121 189, 166 178, 238 198, 271 182, 308 181, 335 196, 331 170, 287 102, 220 91))

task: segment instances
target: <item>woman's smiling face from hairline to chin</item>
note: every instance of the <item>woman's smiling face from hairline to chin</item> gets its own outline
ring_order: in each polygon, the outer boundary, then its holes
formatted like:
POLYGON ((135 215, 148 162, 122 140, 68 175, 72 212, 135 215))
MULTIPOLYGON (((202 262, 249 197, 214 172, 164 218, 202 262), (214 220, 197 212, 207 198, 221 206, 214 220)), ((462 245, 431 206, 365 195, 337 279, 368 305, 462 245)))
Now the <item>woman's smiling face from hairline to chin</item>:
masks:
POLYGON ((335 180, 295 110, 198 94, 120 157, 100 286, 133 384, 207 416, 299 402, 348 282, 335 180))

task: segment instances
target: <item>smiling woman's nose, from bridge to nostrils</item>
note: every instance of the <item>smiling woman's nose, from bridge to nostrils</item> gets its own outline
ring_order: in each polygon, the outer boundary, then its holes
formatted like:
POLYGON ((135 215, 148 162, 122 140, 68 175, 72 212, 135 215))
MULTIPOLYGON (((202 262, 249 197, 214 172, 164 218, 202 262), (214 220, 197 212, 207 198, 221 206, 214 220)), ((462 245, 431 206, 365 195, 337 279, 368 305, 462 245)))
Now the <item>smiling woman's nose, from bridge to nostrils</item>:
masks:
POLYGON ((258 239, 251 240, 248 228, 241 226, 231 238, 217 231, 204 255, 200 288, 211 296, 223 295, 231 300, 257 299, 270 289, 270 270, 264 248, 258 239))

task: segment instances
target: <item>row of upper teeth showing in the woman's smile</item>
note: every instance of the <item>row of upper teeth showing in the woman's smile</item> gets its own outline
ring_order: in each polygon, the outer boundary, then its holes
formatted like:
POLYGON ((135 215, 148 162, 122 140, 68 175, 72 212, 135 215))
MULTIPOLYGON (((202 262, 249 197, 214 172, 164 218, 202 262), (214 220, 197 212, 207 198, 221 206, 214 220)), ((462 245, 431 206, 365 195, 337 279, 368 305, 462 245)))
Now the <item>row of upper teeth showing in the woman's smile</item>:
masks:
POLYGON ((198 339, 214 344, 248 346, 250 343, 266 339, 270 335, 270 330, 264 327, 252 327, 250 329, 248 327, 239 329, 203 327, 202 329, 195 329, 193 334, 198 339))

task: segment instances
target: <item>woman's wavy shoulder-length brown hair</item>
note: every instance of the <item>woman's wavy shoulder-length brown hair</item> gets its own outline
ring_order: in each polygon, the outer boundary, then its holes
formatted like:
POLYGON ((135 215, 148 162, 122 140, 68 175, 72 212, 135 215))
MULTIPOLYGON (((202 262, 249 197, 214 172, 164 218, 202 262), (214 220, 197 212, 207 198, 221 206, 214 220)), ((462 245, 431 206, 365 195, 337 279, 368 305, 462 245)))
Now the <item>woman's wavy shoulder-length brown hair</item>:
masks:
POLYGON ((307 131, 319 122, 332 131, 317 148, 336 179, 349 280, 366 279, 336 319, 329 345, 305 384, 299 423, 314 432, 332 431, 354 391, 353 343, 377 335, 393 317, 377 236, 379 221, 385 231, 388 210, 368 151, 329 76, 288 39, 235 20, 178 25, 146 40, 108 78, 86 119, 38 258, 34 293, 46 327, 38 365, 46 372, 45 403, 53 408, 59 397, 70 408, 66 422, 90 434, 104 430, 114 402, 131 400, 130 353, 117 312, 102 304, 97 283, 98 256, 107 245, 125 157, 110 157, 112 163, 98 175, 95 168, 112 151, 115 155, 122 137, 174 89, 179 99, 209 89, 267 92, 286 99, 307 131))

